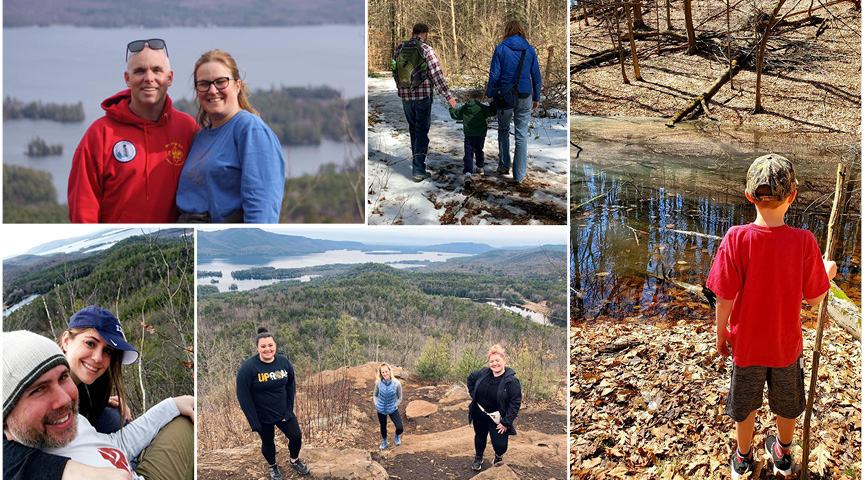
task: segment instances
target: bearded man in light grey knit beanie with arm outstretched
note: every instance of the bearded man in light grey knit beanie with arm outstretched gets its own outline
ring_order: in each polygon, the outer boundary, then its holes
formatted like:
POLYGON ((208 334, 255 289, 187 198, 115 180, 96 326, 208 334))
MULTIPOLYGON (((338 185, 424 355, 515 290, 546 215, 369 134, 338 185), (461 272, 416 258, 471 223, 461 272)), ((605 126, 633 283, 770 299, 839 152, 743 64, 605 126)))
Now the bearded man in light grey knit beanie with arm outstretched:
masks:
MULTIPOLYGON (((20 471, 10 474, 7 470, 14 467, 7 469, 5 460, 7 448, 18 442, 71 459, 63 478, 76 478, 69 475, 71 470, 77 478, 144 480, 129 460, 178 415, 194 418, 194 398, 186 395, 163 400, 119 432, 98 433, 78 415, 78 390, 60 347, 26 331, 3 332, 2 337, 4 478, 23 475, 20 471)), ((145 461, 140 459, 139 467, 145 461)), ((148 475, 147 480, 159 478, 148 475)))

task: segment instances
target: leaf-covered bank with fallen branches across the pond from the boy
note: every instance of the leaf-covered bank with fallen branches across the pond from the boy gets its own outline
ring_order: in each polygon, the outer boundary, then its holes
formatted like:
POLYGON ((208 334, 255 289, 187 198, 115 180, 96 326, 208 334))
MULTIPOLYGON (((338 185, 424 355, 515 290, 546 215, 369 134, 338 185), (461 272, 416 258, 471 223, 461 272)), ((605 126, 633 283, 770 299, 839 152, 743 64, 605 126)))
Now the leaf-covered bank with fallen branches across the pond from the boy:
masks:
MULTIPOLYGON (((770 13, 771 4, 761 2, 770 13)), ((739 3, 737 5, 750 5, 739 3)), ((644 5, 644 4, 643 4, 644 5)), ((806 10, 797 4, 796 10, 806 10)), ((803 6, 802 6, 803 5, 803 6)), ((762 76, 764 114, 753 115, 755 104, 755 60, 742 69, 731 84, 727 83, 709 102, 711 120, 718 124, 759 127, 773 132, 819 132, 839 141, 855 143, 860 135, 861 118, 861 14, 851 3, 839 3, 814 11, 817 24, 780 25, 769 37, 766 67, 762 76)), ((656 12, 645 8, 645 22, 656 28, 656 12)), ((663 37, 658 54, 657 37, 636 41, 642 81, 636 81, 632 59, 625 58, 630 84, 622 82, 617 56, 599 66, 571 75, 570 111, 576 115, 671 117, 693 98, 707 91, 727 69, 726 16, 724 2, 694 3, 697 42, 700 51, 687 55, 686 41, 663 37)), ((789 10, 784 7, 783 12, 789 10)), ((672 24, 675 32, 684 34, 683 13, 673 4, 672 24)), ((576 15, 578 12, 574 12, 576 15)), ((782 13, 782 12, 781 12, 782 13)), ((799 20, 804 15, 790 17, 799 20)), ((665 12, 659 21, 665 29, 665 12)), ((733 11, 730 23, 746 26, 748 17, 733 11)), ((752 21, 750 22, 752 23, 752 21)), ((586 61, 589 55, 612 48, 605 24, 589 16, 571 21, 571 68, 586 61)), ((626 34, 626 23, 622 29, 626 34)), ((753 27, 733 32, 733 45, 746 49, 753 40, 753 27)), ((624 42, 629 51, 628 42, 624 42)), ((733 56, 735 56, 733 50, 733 56)), ((755 56, 753 57, 755 58, 755 56)), ((688 118, 706 118, 698 115, 688 118)))

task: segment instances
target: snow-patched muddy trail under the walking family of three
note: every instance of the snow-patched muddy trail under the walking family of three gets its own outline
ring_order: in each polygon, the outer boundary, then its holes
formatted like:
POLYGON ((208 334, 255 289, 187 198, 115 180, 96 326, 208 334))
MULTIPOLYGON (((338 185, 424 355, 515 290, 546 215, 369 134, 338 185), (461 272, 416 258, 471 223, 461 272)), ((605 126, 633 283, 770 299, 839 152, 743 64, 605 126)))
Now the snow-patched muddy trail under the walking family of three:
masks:
MULTIPOLYGON (((564 112, 532 117, 528 130, 528 174, 519 185, 494 173, 498 132, 493 118, 484 148, 486 176, 472 175, 462 185, 464 134, 435 95, 426 169, 422 182, 411 180, 411 143, 402 101, 390 76, 369 78, 367 160, 370 225, 391 224, 553 224, 567 223, 568 129, 564 112)), ((454 91, 457 102, 464 95, 454 91)), ((511 126, 512 135, 512 126, 511 126)), ((514 147, 511 137, 510 148, 514 147)))

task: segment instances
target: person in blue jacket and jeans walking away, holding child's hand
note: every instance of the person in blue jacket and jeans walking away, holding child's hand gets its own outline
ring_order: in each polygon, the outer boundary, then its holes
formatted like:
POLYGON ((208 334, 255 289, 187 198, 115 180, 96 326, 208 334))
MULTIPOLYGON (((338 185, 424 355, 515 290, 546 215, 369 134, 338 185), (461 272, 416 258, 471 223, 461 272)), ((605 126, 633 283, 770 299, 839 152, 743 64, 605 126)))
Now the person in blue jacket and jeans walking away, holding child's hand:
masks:
POLYGON ((516 150, 513 155, 513 183, 521 183, 528 170, 528 122, 531 111, 540 104, 540 63, 537 52, 528 43, 525 27, 518 20, 511 20, 504 26, 504 41, 495 47, 492 65, 489 67, 489 81, 486 96, 495 95, 495 87, 502 84, 519 84, 519 100, 515 108, 498 107, 498 173, 510 173, 510 119, 516 128, 516 150), (519 60, 522 53, 522 70, 519 60), (516 73, 519 72, 519 78, 516 73))

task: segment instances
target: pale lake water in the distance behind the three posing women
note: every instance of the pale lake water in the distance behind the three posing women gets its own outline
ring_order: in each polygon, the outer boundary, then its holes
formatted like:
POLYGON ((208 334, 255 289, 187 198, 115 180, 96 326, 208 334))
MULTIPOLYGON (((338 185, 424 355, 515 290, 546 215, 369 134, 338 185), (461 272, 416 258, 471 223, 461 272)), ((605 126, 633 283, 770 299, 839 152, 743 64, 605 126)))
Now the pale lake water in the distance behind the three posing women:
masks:
MULTIPOLYGON (((249 257, 231 257, 217 258, 213 260, 205 260, 198 262, 198 270, 208 272, 222 272, 222 278, 206 277, 197 279, 198 285, 215 285, 220 292, 227 292, 228 287, 234 283, 239 291, 251 290, 253 288, 263 287, 280 281, 286 280, 235 280, 231 278, 231 272, 236 270, 246 270, 253 267, 274 267, 274 268, 303 268, 316 267, 320 265, 333 265, 337 263, 345 264, 360 264, 360 263, 386 263, 393 268, 417 268, 422 267, 422 264, 405 263, 416 261, 444 262, 450 258, 470 256, 464 253, 440 253, 440 252, 421 252, 421 253, 382 253, 382 252, 361 252, 359 250, 328 250, 323 253, 312 253, 309 255, 297 255, 291 257, 276 257, 276 258, 249 258, 249 257), (218 280, 218 283, 211 283, 211 280, 218 280)), ((299 281, 309 281, 314 276, 304 276, 299 281)), ((287 280, 298 281, 298 280, 287 280)))

